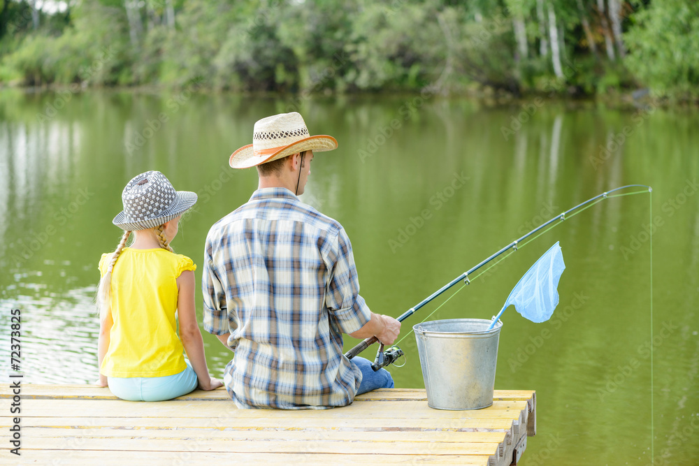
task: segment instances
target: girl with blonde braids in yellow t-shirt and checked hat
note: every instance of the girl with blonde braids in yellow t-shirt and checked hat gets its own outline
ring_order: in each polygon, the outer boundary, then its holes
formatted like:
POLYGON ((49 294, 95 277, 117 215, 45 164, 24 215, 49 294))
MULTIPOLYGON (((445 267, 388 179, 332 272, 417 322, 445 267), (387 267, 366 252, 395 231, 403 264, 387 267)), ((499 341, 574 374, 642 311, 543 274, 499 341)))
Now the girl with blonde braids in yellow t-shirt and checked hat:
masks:
POLYGON ((134 177, 122 192, 124 210, 113 224, 124 230, 115 252, 102 254, 97 292, 99 386, 123 400, 170 400, 199 385, 222 385, 209 375, 194 311, 194 270, 170 242, 196 194, 175 191, 162 173, 134 177), (134 242, 125 247, 129 235, 134 242), (175 310, 180 322, 177 335, 175 310), (182 356, 182 345, 189 361, 182 356))

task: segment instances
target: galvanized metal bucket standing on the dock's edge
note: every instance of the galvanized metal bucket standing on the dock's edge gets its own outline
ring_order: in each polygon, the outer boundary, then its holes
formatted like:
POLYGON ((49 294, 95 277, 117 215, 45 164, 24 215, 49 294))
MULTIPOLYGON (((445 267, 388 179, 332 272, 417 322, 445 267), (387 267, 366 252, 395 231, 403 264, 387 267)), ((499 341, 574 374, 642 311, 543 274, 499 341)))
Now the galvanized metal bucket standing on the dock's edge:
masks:
POLYGON ((435 409, 481 409, 493 404, 498 341, 503 323, 485 319, 418 323, 417 339, 427 404, 435 409))

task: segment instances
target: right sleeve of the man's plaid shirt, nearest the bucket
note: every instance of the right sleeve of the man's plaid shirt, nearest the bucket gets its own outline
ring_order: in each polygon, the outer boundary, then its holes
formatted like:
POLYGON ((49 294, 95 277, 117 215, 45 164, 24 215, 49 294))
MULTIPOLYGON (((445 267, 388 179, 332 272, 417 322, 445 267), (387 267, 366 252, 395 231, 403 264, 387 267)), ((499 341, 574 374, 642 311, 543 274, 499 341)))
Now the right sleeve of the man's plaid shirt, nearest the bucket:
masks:
POLYGON ((336 245, 336 261, 326 293, 325 305, 343 333, 356 332, 371 319, 369 307, 359 296, 352 244, 344 228, 340 228, 336 245))

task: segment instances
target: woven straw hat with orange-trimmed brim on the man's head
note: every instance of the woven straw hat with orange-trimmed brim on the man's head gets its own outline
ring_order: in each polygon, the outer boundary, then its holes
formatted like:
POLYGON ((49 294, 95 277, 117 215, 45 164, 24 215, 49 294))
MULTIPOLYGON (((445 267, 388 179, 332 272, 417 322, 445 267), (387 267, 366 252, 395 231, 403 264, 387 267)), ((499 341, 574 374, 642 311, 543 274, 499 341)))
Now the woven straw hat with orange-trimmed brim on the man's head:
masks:
POLYGON ((252 144, 233 152, 229 164, 233 168, 250 168, 305 150, 326 152, 337 148, 338 141, 332 136, 310 136, 297 112, 280 113, 258 120, 252 144))

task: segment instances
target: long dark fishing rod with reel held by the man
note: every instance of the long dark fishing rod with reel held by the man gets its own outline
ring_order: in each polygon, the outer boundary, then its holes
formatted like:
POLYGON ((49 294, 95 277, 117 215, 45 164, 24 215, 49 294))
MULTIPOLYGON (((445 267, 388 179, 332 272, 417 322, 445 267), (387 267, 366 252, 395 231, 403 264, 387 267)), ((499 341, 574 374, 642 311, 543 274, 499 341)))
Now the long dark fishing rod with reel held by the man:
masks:
MULTIPOLYGON (((503 247, 503 249, 500 249, 498 252, 496 252, 495 254, 490 256, 489 258, 484 259, 484 261, 481 261, 480 263, 478 263, 474 267, 466 270, 466 272, 463 272, 461 275, 459 275, 459 277, 456 277, 451 282, 445 284, 445 286, 442 286, 442 288, 438 289, 437 291, 432 293, 430 296, 428 296, 424 300, 421 300, 419 303, 417 303, 417 305, 415 305, 415 306, 411 307, 409 310, 405 311, 396 320, 399 322, 403 322, 405 319, 408 319, 408 317, 412 316, 412 314, 415 314, 415 312, 417 310, 419 310, 421 307, 430 303, 431 300, 437 298, 442 293, 444 293, 445 291, 450 289, 452 286, 461 282, 461 280, 463 280, 463 282, 465 284, 470 284, 470 280, 468 279, 469 274, 480 269, 483 265, 486 265, 487 263, 489 263, 493 259, 496 259, 498 256, 509 251, 510 249, 514 249, 514 251, 517 251, 517 245, 519 244, 519 242, 526 240, 526 238, 529 238, 531 235, 540 231, 542 228, 545 228, 546 226, 549 226, 550 224, 552 224, 556 221, 560 221, 562 223, 563 221, 565 221, 566 215, 570 215, 572 217, 572 215, 578 214, 579 212, 582 212, 582 210, 584 210, 584 209, 578 210, 578 209, 580 209, 580 207, 583 207, 583 206, 591 207, 591 205, 589 205, 590 203, 596 203, 595 201, 597 201, 597 202, 603 201, 604 199, 607 198, 607 196, 612 194, 614 191, 619 191, 621 189, 632 188, 632 187, 647 188, 648 191, 653 190, 651 187, 649 187, 645 184, 626 184, 626 186, 621 186, 618 188, 610 189, 610 191, 605 191, 602 194, 598 194, 597 196, 595 196, 593 198, 589 198, 587 201, 584 201, 583 203, 579 203, 575 207, 572 207, 571 209, 568 209, 565 212, 563 212, 559 215, 556 215, 556 217, 553 217, 549 221, 546 221, 545 223, 541 224, 540 226, 534 228, 532 231, 526 233, 525 235, 522 235, 521 238, 517 238, 517 240, 512 241, 509 245, 503 247), (578 210, 578 211, 575 212, 576 210, 578 210), (572 212, 575 212, 575 213, 571 214, 572 212)), ((635 191, 635 192, 637 193, 637 192, 642 192, 642 191, 635 191)), ((635 193, 627 193, 627 194, 635 194, 635 193)), ((621 195, 617 195, 617 196, 625 196, 625 194, 621 194, 621 195)), ((587 207, 585 207, 585 208, 587 208, 587 207)), ((378 341, 379 340, 377 339, 377 337, 366 338, 366 340, 363 340, 362 342, 357 344, 356 347, 347 351, 347 353, 345 353, 345 357, 347 357, 348 359, 352 359, 352 358, 354 358, 354 356, 361 353, 362 351, 364 351, 365 349, 367 349, 372 344, 374 344, 375 342, 378 342, 378 341)), ((394 347, 391 347, 391 348, 387 349, 386 351, 384 351, 384 344, 380 344, 379 351, 377 351, 376 358, 374 359, 374 362, 371 365, 371 368, 373 370, 377 371, 381 367, 384 367, 386 365, 393 363, 394 361, 396 361, 396 359, 398 359, 401 356, 403 356, 403 350, 401 350, 400 348, 394 346, 394 347)))

